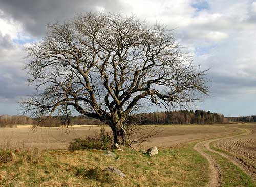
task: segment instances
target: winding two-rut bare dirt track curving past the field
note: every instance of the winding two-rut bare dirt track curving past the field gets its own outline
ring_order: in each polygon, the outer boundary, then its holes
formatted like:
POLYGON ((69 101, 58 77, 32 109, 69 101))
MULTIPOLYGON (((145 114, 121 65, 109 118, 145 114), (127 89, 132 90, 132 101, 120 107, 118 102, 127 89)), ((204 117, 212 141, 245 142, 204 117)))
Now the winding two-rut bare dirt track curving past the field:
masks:
MULTIPOLYGON (((236 128, 236 127, 234 127, 236 128)), ((241 128, 240 128, 241 129, 241 128)), ((204 140, 202 142, 197 143, 194 146, 194 149, 196 151, 198 151, 200 154, 202 154, 209 162, 209 167, 210 167, 210 180, 208 182, 208 187, 218 187, 221 185, 221 169, 218 166, 217 162, 215 161, 214 158, 212 158, 209 154, 205 153, 204 150, 207 151, 211 151, 211 152, 215 152, 227 159, 229 159, 233 164, 237 165, 238 167, 240 167, 242 170, 244 170, 244 168, 241 167, 240 164, 238 164, 236 161, 234 161, 231 157, 227 156, 224 153, 212 150, 209 147, 209 144, 212 142, 216 142, 216 141, 221 141, 221 140, 226 140, 226 139, 230 139, 230 138, 234 138, 234 137, 240 137, 240 136, 244 136, 244 135, 250 135, 251 131, 248 129, 241 129, 244 130, 243 133, 240 133, 238 135, 230 135, 230 136, 226 136, 226 137, 222 137, 222 138, 214 138, 214 139, 210 139, 210 140, 204 140)), ((246 170, 244 170, 246 173, 248 173, 246 170)))

